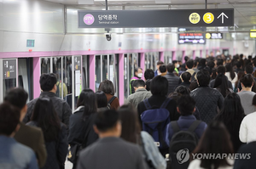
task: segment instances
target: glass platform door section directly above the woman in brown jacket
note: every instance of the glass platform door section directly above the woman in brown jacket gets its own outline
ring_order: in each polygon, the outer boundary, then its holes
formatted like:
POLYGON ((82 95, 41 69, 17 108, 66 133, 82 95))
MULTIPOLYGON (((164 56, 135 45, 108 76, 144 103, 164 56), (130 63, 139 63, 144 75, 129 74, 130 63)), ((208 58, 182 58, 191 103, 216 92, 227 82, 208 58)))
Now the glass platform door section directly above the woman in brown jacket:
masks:
POLYGON ((96 91, 100 83, 105 79, 113 82, 115 88, 115 96, 119 96, 119 56, 117 54, 102 54, 96 55, 96 91))

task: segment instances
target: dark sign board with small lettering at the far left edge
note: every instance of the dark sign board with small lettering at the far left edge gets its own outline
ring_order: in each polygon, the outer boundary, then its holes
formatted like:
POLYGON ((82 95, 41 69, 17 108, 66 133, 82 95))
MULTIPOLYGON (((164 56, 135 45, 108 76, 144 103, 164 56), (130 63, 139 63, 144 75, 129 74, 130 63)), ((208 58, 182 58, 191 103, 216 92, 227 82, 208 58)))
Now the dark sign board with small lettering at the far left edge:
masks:
POLYGON ((15 79, 16 71, 16 59, 3 60, 3 79, 15 79))

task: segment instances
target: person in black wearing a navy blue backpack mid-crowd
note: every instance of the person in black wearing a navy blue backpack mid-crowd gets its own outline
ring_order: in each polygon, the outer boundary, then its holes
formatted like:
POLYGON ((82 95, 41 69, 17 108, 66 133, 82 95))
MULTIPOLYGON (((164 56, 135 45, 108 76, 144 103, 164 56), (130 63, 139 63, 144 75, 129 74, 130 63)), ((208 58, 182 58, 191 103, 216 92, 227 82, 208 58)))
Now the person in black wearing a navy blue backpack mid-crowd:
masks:
POLYGON ((151 82, 152 96, 137 105, 138 117, 143 131, 148 132, 159 147, 160 153, 168 153, 165 141, 166 127, 170 121, 177 121, 179 114, 176 102, 167 99, 168 81, 164 76, 155 76, 151 82))

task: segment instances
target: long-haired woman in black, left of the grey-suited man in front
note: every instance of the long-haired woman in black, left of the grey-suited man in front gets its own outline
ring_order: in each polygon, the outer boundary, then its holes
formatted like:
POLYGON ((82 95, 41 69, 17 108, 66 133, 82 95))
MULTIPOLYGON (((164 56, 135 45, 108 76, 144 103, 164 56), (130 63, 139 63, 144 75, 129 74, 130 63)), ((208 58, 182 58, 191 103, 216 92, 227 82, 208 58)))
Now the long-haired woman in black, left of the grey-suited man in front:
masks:
MULTIPOLYGON (((93 120, 97 112, 96 94, 89 88, 84 89, 79 95, 77 107, 69 118, 67 140, 71 149, 84 149, 98 138, 93 130, 93 120)), ((72 162, 75 168, 77 159, 72 162)))

